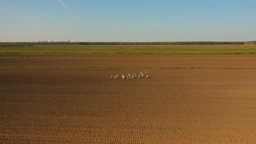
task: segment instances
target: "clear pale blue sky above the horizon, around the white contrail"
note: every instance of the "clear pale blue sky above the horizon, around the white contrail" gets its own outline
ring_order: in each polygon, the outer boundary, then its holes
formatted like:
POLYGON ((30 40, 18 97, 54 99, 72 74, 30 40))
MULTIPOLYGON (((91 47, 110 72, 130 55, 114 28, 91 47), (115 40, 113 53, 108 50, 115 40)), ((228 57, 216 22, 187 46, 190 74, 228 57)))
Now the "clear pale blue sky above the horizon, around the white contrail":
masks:
POLYGON ((0 42, 256 40, 256 0, 0 0, 0 42))

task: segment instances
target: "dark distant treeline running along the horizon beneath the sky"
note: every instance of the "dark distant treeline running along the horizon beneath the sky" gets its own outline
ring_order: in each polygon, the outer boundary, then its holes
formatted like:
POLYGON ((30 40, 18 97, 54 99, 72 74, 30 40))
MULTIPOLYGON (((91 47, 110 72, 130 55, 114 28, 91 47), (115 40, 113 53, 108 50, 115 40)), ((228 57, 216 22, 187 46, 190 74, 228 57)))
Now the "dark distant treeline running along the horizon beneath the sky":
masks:
POLYGON ((243 45, 251 42, 0 42, 0 46, 33 45, 243 45))

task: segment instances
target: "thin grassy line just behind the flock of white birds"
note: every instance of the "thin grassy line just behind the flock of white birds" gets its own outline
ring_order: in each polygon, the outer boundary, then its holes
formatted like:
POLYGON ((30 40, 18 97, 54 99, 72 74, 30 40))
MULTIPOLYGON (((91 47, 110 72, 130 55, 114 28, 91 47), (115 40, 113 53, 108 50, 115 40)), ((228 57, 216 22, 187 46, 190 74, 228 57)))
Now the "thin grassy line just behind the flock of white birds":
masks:
POLYGON ((202 68, 202 67, 169 67, 169 68, 100 68, 100 67, 0 67, 0 69, 256 69, 256 68, 202 68))

